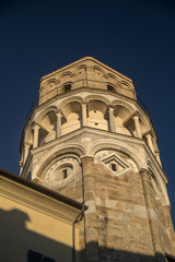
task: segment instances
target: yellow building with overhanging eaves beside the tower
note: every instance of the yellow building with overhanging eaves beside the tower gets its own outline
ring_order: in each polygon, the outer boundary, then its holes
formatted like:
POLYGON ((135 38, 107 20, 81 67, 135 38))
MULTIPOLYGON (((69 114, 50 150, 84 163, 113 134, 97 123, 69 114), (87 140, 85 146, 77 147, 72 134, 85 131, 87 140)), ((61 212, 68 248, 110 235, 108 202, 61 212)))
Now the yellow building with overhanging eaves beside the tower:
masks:
POLYGON ((78 261, 83 212, 77 201, 0 169, 0 261, 78 261))

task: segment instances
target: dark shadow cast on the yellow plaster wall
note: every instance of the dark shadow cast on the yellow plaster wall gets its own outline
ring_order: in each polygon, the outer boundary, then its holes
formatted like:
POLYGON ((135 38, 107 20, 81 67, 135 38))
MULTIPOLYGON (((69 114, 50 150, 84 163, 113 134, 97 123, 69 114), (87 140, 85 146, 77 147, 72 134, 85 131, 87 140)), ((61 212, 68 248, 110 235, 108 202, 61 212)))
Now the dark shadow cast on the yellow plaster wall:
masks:
POLYGON ((54 259, 55 262, 71 261, 72 250, 70 247, 28 230, 26 222, 30 222, 26 213, 19 210, 0 210, 1 262, 27 262, 28 250, 54 259))

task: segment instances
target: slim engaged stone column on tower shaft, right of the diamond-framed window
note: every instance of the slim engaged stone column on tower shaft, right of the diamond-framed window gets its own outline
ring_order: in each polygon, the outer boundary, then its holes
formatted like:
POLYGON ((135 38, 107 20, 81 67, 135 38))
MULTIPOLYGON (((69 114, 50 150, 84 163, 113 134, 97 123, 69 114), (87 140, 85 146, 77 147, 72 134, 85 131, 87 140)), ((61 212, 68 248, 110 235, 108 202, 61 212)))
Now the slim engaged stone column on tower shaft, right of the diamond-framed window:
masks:
POLYGON ((165 262, 164 250, 161 243, 161 236, 158 225, 159 218, 156 217, 155 199, 152 191, 151 174, 149 170, 142 168, 140 170, 140 175, 155 261, 165 262))

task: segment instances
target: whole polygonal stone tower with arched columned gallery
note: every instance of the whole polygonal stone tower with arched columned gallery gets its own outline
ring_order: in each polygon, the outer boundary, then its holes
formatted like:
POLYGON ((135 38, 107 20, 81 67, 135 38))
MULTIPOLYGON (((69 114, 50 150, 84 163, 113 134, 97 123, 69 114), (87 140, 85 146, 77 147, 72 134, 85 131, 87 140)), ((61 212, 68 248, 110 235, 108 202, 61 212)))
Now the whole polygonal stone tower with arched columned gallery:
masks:
POLYGON ((174 261, 158 135, 133 83, 94 58, 42 78, 21 176, 84 202, 80 261, 174 261))

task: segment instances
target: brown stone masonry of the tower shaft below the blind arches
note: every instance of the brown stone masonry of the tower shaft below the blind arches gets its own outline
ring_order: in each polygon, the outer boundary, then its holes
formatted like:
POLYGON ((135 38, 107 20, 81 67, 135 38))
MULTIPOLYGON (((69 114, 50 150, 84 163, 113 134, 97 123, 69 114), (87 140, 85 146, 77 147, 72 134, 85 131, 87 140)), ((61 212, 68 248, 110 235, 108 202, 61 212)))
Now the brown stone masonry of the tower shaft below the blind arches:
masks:
POLYGON ((85 255, 86 262, 165 261, 164 252, 173 252, 170 222, 165 227, 170 213, 155 201, 143 175, 114 176, 93 157, 82 157, 82 172, 59 190, 89 206, 80 226, 81 261, 85 255))

